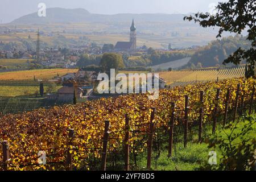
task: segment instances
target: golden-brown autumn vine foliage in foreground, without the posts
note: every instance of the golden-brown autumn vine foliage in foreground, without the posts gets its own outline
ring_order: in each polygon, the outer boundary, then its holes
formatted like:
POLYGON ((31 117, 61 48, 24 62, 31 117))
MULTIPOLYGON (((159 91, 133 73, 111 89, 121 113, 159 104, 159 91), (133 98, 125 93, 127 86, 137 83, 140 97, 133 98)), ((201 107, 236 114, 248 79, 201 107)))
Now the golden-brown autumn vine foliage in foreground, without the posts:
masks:
MULTIPOLYGON (((230 89, 229 109, 234 107, 237 84, 241 84, 241 96, 244 101, 251 98, 251 90, 255 80, 242 78, 207 82, 187 86, 177 86, 172 89, 160 90, 159 98, 148 100, 148 94, 129 94, 117 98, 101 98, 84 104, 55 106, 52 109, 37 109, 22 114, 0 115, 0 142, 7 140, 10 144, 10 170, 38 170, 65 169, 66 154, 73 154, 75 169, 94 169, 93 161, 101 158, 102 138, 104 135, 104 121, 110 122, 109 133, 112 140, 108 143, 109 151, 119 151, 125 138, 125 115, 129 114, 129 138, 131 152, 143 152, 134 146, 136 141, 142 141, 143 131, 147 133, 152 107, 155 107, 154 126, 156 129, 167 128, 170 121, 171 102, 175 102, 176 109, 184 110, 184 96, 189 96, 189 122, 199 118, 200 91, 204 91, 204 122, 212 121, 216 89, 220 88, 218 110, 225 109, 226 91, 230 89), (72 144, 68 135, 69 129, 75 131, 72 144), (133 150, 136 148, 136 150, 133 150), (47 165, 38 165, 38 152, 45 151, 47 165)), ((176 117, 184 118, 184 112, 178 111, 176 117)), ((178 123, 175 123, 178 125, 178 123)), ((0 150, 0 161, 3 155, 0 150)), ((0 167, 0 169, 2 169, 0 167)))

